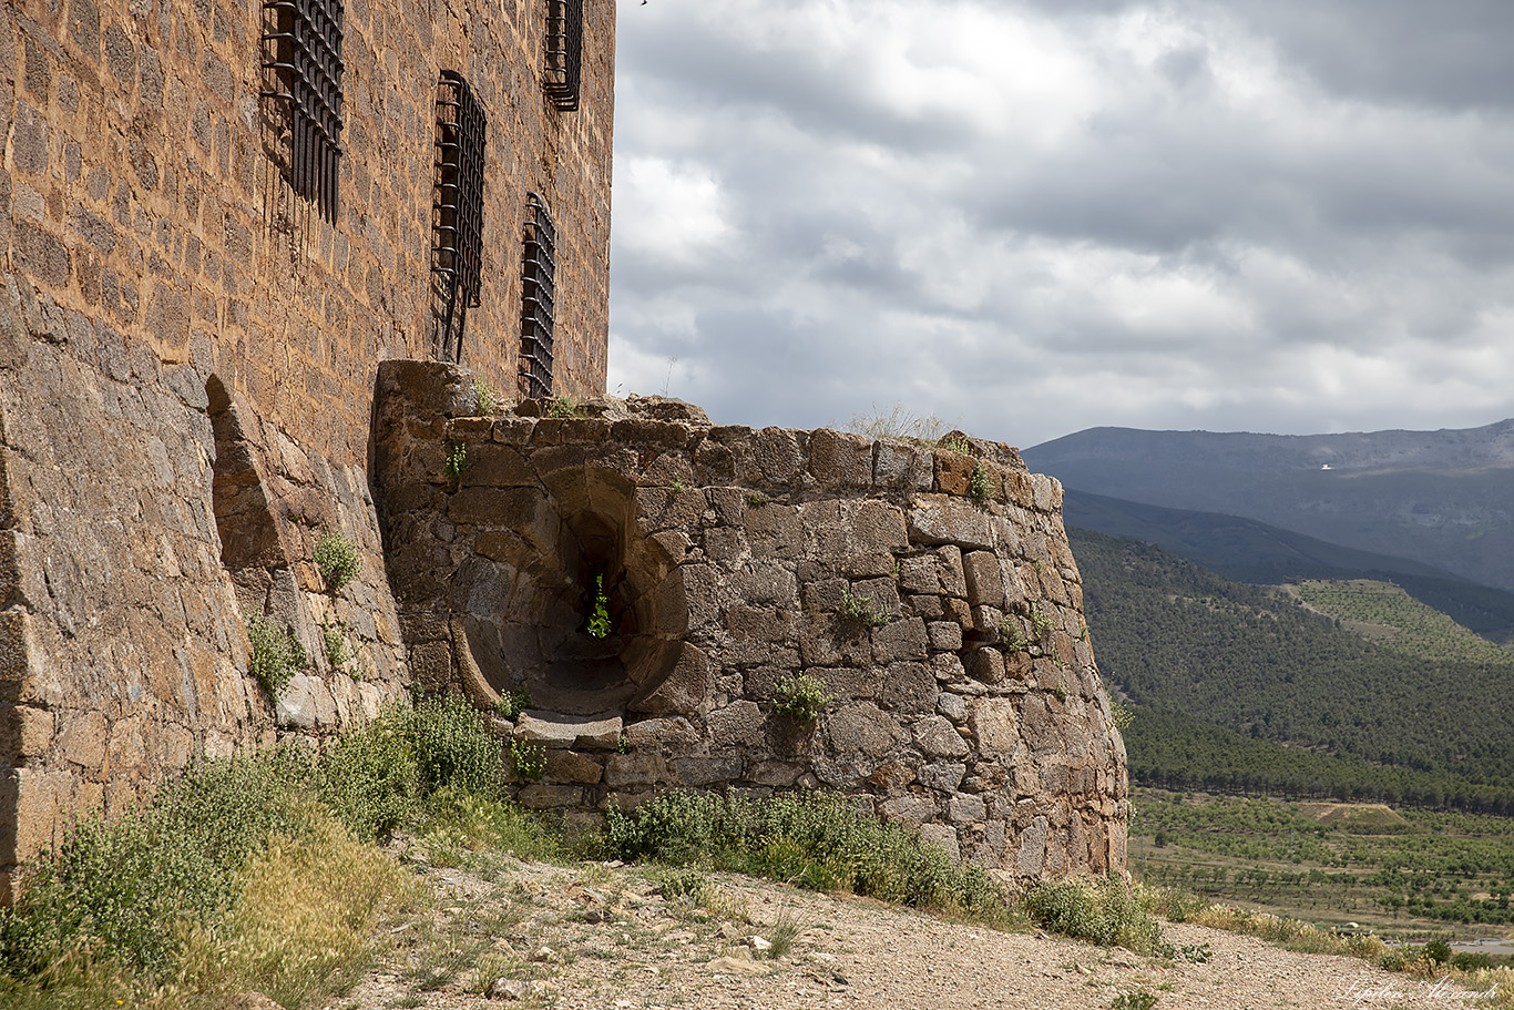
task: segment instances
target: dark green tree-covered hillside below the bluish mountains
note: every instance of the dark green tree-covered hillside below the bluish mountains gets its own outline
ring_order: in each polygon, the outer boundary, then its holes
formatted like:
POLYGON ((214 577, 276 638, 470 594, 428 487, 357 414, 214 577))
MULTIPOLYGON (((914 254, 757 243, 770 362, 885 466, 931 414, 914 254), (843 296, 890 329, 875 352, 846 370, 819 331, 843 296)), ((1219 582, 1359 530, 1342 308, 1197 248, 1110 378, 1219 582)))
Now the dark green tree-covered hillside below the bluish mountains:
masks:
POLYGON ((1514 666, 1396 653, 1279 589, 1070 536, 1137 781, 1509 809, 1514 666))

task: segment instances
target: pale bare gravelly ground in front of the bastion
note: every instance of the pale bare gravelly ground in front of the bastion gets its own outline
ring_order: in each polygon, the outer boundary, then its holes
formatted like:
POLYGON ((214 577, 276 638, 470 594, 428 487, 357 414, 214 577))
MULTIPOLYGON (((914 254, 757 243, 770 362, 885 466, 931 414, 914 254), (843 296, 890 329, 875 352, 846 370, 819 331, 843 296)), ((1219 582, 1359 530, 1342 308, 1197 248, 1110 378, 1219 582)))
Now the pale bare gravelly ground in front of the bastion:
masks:
POLYGON ((439 895, 433 913, 398 927, 395 951, 329 1010, 1388 1010, 1476 1002, 1461 989, 1354 959, 1296 954, 1195 925, 1166 927, 1167 940, 1192 957, 1169 962, 745 877, 469 865, 427 871, 439 895), (678 893, 690 884, 695 895, 678 893))

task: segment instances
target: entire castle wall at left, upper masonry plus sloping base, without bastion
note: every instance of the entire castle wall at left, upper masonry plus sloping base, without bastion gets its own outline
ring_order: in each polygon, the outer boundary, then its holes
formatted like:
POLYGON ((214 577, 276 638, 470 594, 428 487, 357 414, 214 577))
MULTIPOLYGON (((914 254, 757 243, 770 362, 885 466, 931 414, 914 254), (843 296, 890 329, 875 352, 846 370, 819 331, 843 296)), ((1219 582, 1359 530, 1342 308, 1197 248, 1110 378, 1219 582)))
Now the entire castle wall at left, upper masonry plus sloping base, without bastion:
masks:
POLYGON ((584 0, 577 111, 542 92, 547 0, 342 6, 330 223, 276 167, 260 3, 0 8, 0 904, 73 819, 192 754, 404 694, 366 466, 378 360, 436 353, 442 70, 488 117, 463 360, 513 394, 536 192, 556 386, 604 388, 615 2, 584 0), (336 594, 324 528, 363 557, 336 594), (245 675, 248 616, 312 663, 277 706, 245 675), (356 659, 332 668, 322 621, 356 659))

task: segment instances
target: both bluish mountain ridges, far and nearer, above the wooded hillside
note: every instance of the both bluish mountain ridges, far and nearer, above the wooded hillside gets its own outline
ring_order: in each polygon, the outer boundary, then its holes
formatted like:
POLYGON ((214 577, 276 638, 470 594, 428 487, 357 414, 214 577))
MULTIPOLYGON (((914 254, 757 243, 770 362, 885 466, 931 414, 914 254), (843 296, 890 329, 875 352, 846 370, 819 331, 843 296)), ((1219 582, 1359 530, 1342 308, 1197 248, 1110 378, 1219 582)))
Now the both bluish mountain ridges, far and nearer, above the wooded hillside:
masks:
POLYGON ((1463 583, 1514 589, 1514 419, 1307 436, 1099 427, 1022 456, 1069 489, 1069 525, 1246 581, 1387 574, 1479 633, 1514 633, 1514 597, 1463 583))

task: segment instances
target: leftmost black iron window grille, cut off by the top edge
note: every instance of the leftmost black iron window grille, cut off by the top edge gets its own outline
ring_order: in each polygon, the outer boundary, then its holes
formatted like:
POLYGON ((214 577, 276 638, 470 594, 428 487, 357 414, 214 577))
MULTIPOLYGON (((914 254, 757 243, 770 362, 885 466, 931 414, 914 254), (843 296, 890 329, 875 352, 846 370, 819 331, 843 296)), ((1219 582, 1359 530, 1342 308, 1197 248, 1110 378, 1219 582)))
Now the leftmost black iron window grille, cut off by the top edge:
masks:
POLYGON ((288 133, 289 186, 336 223, 342 159, 342 0, 263 0, 262 91, 288 133))

